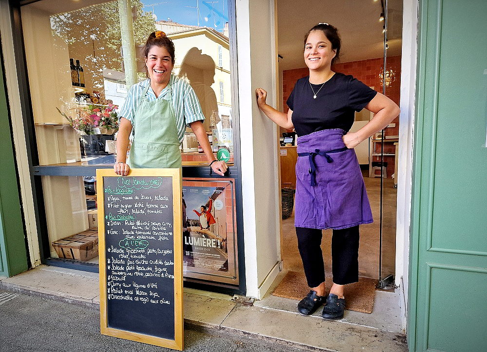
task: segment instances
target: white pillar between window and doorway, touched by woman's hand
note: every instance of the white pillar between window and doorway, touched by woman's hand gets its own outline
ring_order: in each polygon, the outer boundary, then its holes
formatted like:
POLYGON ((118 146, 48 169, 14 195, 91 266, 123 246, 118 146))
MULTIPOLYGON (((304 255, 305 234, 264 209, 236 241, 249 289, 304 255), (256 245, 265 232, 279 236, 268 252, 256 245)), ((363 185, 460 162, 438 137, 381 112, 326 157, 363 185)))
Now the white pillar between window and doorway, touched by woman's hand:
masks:
POLYGON ((246 295, 260 299, 279 273, 281 252, 277 128, 255 99, 262 87, 277 105, 274 1, 237 0, 236 18, 246 295))

